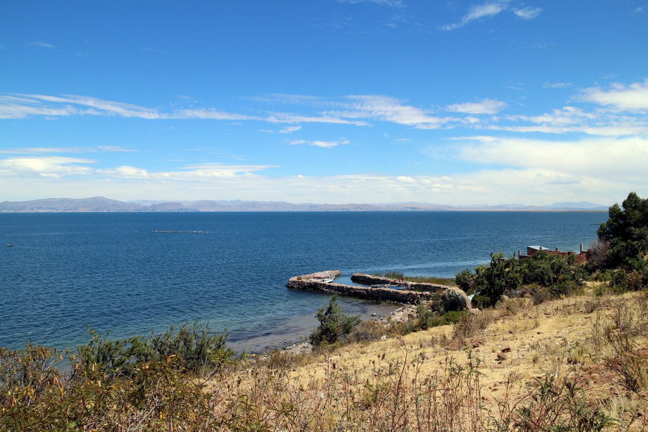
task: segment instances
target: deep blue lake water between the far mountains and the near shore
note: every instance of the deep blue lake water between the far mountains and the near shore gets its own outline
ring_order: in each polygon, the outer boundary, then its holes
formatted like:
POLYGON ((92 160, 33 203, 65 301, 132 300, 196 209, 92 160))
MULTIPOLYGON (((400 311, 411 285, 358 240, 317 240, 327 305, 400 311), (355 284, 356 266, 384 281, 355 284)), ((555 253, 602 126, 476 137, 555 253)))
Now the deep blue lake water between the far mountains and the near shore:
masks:
MULTIPOLYGON (((304 212, 0 214, 0 347, 76 347, 203 321, 258 352, 299 341, 327 302, 288 290, 339 269, 453 276, 526 245, 577 250, 606 213, 304 212), (152 231, 202 233, 152 233, 152 231), (6 247, 12 243, 13 247, 6 247)), ((393 305, 343 299, 348 313, 393 305)))

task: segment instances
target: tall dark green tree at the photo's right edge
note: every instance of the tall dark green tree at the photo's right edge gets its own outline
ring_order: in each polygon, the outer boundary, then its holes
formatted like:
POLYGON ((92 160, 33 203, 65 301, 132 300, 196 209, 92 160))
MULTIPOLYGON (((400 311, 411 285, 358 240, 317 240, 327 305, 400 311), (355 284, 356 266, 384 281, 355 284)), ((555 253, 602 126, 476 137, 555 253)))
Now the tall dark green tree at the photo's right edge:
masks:
POLYGON ((648 199, 630 192, 621 204, 610 207, 607 222, 601 223, 599 240, 608 244, 605 267, 648 271, 648 199))

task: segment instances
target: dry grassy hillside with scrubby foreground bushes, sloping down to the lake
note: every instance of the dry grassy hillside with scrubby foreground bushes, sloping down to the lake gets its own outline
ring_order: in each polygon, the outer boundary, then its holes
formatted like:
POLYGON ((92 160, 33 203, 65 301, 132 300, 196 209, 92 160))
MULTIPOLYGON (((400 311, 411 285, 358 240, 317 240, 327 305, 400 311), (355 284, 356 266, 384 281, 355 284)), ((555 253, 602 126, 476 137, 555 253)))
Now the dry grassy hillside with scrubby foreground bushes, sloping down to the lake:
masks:
POLYGON ((0 429, 645 429, 648 294, 597 295, 592 284, 411 334, 394 325, 386 340, 209 368, 170 354, 117 374, 73 361, 62 376, 51 350, 0 350, 0 429))

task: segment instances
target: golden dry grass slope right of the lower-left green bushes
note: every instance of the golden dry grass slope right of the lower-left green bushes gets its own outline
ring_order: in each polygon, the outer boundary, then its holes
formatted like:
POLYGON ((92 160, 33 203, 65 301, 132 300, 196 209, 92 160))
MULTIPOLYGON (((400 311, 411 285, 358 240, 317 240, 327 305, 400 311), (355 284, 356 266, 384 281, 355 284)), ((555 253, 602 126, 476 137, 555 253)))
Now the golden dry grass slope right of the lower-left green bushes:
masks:
POLYGON ((255 365, 216 409, 270 430, 549 430, 550 418, 562 430, 642 430, 646 303, 511 299, 455 326, 255 365))

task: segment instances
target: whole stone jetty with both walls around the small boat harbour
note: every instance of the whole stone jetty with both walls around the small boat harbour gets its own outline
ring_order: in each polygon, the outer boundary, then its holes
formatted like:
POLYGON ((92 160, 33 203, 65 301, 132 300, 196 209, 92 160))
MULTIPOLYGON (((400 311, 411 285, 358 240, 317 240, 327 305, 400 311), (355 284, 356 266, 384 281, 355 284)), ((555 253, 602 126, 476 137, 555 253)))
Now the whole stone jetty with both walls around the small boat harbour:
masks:
POLYGON ((288 280, 286 286, 298 290, 321 291, 324 293, 348 295, 360 299, 377 300, 384 302, 393 302, 399 304, 416 304, 421 301, 432 300, 433 293, 441 293, 448 288, 445 285, 428 284, 421 282, 399 282, 398 280, 388 279, 364 273, 354 273, 351 280, 375 285, 400 284, 404 288, 393 290, 392 288, 372 288, 371 286, 353 286, 345 284, 336 284, 334 282, 321 282, 314 280, 314 277, 338 277, 339 270, 318 271, 309 275, 294 276, 288 280), (413 291, 416 290, 416 291, 413 291))

